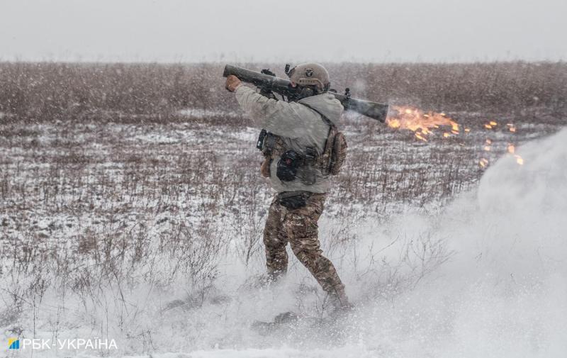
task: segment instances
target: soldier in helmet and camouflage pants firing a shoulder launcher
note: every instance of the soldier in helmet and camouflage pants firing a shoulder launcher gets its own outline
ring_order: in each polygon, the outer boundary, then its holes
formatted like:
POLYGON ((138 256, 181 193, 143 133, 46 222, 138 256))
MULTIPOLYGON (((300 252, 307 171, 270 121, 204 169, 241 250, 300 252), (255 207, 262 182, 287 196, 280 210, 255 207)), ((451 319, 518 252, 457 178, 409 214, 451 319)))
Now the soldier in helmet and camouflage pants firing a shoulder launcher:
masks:
POLYGON ((298 101, 263 96, 233 75, 226 80, 226 88, 235 92, 238 104, 255 125, 264 128, 259 138, 265 157, 261 172, 278 193, 264 228, 268 274, 278 279, 286 273, 289 242, 333 306, 349 308, 344 285, 332 262, 322 255, 318 238, 318 220, 330 187, 327 138, 337 133, 343 107, 335 96, 327 94, 330 81, 325 67, 298 65, 288 76, 291 85, 301 89, 298 101))

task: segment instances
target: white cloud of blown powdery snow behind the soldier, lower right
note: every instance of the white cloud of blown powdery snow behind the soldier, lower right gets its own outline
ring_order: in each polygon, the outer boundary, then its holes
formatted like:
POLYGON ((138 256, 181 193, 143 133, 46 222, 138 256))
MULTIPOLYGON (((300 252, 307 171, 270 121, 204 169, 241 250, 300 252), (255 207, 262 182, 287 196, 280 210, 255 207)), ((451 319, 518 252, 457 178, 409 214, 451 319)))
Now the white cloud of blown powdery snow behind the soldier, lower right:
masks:
POLYGON ((223 333, 235 334, 231 325, 237 325, 245 344, 192 357, 564 357, 567 130, 531 142, 519 154, 523 166, 512 156, 501 158, 485 172, 478 191, 460 196, 440 215, 408 213, 386 225, 369 222, 353 229, 360 261, 373 247, 387 247, 381 249, 386 258, 399 257, 401 242, 420 237, 444 242, 453 254, 391 299, 369 298, 376 276, 354 273, 369 262, 342 261, 339 272, 357 311, 340 326, 339 340, 335 332, 327 332, 325 340, 321 332, 303 328, 296 328, 301 335, 284 330, 255 337, 242 324, 293 308, 290 291, 297 282, 291 277, 287 287, 240 297, 232 322, 202 332, 205 340, 216 336, 222 348, 223 333))

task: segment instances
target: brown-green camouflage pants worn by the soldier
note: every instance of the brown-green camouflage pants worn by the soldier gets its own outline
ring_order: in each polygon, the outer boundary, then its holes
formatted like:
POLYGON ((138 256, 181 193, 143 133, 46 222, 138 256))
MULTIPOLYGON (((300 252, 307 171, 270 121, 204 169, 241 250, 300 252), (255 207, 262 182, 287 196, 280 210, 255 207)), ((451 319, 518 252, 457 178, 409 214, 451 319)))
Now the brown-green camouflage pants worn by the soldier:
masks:
POLYGON ((278 197, 269 208, 264 245, 266 266, 271 276, 284 274, 288 266, 286 245, 291 245, 293 254, 313 274, 322 289, 346 302, 344 285, 337 270, 327 257, 322 255, 317 222, 323 211, 326 194, 312 194, 302 208, 288 209, 281 206, 278 197))

